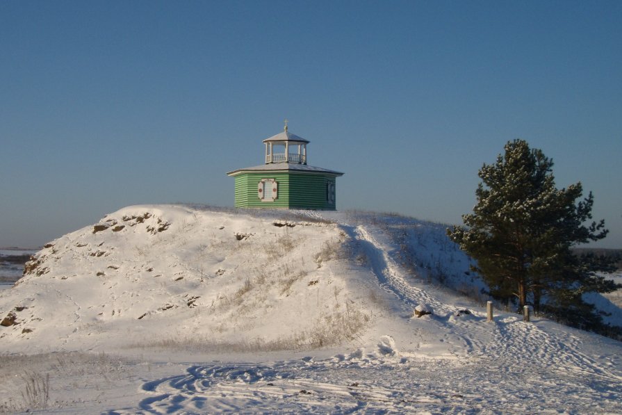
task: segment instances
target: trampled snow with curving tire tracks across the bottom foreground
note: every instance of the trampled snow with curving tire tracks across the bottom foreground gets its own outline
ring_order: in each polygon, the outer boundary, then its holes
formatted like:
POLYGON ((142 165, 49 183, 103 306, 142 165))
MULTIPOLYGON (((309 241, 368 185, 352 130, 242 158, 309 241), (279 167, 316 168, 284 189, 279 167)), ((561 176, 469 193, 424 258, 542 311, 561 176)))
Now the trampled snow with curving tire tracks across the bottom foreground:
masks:
POLYGON ((136 409, 108 414, 237 413, 620 413, 622 386, 507 362, 336 355, 270 364, 208 364, 146 382, 136 409))

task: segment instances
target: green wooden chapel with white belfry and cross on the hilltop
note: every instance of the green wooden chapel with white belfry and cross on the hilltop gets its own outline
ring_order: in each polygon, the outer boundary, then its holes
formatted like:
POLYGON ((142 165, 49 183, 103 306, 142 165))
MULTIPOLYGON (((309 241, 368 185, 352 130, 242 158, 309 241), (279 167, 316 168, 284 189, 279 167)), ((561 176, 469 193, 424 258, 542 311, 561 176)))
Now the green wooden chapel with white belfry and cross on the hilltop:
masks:
POLYGON ((228 172, 236 179, 236 207, 336 209, 343 173, 306 164, 308 140, 287 131, 263 140, 265 164, 228 172))

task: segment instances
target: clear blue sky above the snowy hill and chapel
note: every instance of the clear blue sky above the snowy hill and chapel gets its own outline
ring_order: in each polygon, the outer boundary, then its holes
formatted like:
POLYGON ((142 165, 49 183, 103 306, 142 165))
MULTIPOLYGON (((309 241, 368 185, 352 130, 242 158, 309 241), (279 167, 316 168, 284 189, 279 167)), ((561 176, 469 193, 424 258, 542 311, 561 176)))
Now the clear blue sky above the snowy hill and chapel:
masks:
POLYGON ((523 138, 622 247, 622 1, 2 1, 0 246, 131 204, 232 206, 311 141, 339 209, 459 223, 523 138))

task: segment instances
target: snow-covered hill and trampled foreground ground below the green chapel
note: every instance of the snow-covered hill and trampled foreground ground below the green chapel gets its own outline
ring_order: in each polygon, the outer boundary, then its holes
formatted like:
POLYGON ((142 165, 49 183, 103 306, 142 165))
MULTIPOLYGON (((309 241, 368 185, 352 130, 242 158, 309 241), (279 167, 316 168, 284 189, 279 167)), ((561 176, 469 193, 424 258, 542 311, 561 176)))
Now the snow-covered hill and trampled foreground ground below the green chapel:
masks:
POLYGON ((622 412, 622 343, 487 322, 442 225, 131 206, 27 271, 0 291, 0 412, 622 412))

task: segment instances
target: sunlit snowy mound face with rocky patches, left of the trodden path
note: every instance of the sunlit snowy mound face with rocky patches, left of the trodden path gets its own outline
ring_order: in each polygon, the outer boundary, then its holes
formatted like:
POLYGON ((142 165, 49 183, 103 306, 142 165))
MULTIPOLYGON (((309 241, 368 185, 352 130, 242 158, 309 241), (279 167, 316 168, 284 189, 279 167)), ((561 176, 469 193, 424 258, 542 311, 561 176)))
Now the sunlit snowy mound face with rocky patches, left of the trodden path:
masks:
POLYGON ((340 343, 373 313, 341 272, 343 241, 327 222, 130 206, 35 254, 1 293, 0 349, 340 343))

